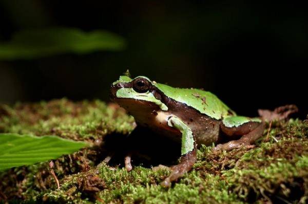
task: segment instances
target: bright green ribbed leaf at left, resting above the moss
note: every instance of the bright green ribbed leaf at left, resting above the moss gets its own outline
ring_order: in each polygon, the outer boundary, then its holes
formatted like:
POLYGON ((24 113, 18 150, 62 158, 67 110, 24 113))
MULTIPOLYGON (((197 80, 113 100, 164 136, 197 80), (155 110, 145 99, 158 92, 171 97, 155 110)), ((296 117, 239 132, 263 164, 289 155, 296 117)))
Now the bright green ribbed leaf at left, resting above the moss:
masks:
POLYGON ((0 171, 56 159, 85 147, 87 143, 56 136, 0 134, 0 171))

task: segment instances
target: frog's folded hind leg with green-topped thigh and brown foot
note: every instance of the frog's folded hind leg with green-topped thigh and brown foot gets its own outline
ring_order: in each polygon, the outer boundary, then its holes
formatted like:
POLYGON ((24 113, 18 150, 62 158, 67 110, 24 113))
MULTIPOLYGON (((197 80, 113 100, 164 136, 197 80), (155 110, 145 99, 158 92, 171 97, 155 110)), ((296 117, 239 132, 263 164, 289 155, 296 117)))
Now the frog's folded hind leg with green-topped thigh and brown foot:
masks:
POLYGON ((232 140, 224 144, 218 144, 214 151, 233 150, 242 146, 252 145, 263 135, 264 123, 258 118, 242 116, 228 117, 220 124, 220 129, 227 136, 242 136, 238 140, 232 140))

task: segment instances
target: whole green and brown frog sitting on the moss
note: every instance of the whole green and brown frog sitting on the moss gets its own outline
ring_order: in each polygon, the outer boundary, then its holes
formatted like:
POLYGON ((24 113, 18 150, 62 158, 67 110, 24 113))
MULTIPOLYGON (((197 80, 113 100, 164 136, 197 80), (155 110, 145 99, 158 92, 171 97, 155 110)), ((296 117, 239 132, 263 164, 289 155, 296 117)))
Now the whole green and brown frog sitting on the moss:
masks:
MULTIPOLYGON (((165 187, 192 168, 198 144, 211 145, 230 136, 241 136, 214 147, 214 151, 232 150, 253 144, 264 131, 261 119, 237 116, 211 92, 174 88, 147 77, 120 76, 111 85, 111 99, 125 108, 138 125, 181 141, 180 163, 162 182, 165 187)), ((130 159, 126 164, 130 170, 130 159)))

